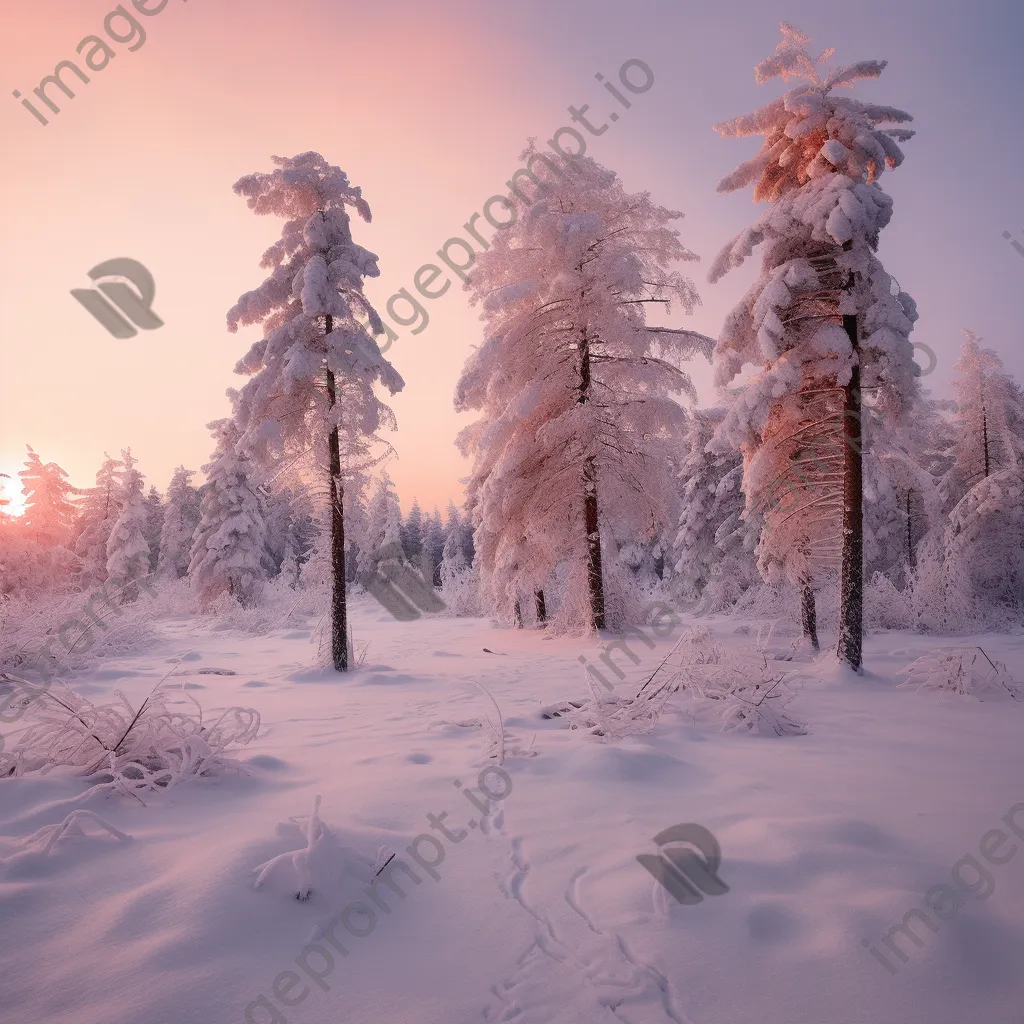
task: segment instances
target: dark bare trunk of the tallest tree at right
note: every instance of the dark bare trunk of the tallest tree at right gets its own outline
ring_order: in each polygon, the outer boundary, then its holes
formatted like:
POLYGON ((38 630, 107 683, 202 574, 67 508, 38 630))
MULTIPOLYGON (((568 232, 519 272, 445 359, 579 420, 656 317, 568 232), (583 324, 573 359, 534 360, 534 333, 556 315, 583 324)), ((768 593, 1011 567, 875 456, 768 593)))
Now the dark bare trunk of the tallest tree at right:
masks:
MULTIPOLYGON (((843 316, 859 360, 856 314, 843 316)), ((860 671, 864 647, 864 465, 861 451, 860 364, 854 364, 843 401, 843 561, 840 575, 840 660, 860 671)))

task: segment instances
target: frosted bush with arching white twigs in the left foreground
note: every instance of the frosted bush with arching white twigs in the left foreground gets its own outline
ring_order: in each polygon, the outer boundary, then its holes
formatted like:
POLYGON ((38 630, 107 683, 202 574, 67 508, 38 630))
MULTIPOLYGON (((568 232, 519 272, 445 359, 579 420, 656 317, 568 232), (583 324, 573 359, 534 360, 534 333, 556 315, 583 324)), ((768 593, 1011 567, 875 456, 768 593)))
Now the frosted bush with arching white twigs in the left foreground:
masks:
POLYGON ((158 684, 136 709, 120 690, 115 700, 93 703, 57 684, 29 706, 29 728, 13 750, 0 753, 0 778, 71 769, 95 779, 97 788, 141 800, 188 778, 245 771, 228 752, 256 738, 259 713, 228 708, 207 725, 183 685, 180 694, 184 701, 172 705, 158 684))

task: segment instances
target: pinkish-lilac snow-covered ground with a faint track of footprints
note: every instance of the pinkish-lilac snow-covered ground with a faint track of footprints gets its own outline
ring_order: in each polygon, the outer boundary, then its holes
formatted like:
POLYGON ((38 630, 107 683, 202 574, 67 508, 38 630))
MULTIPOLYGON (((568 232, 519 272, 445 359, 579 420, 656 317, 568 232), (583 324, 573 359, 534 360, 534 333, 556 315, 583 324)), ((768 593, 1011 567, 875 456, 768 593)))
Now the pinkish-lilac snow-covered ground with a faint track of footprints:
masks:
MULTIPOLYGON (((181 658, 167 685, 184 679, 207 712, 253 707, 262 727, 239 754, 249 777, 185 783, 147 806, 83 798, 72 776, 0 781, 0 1021, 1024 1019, 1024 854, 983 856, 1024 846, 987 836, 1009 831, 1000 818, 1024 802, 1024 709, 895 688, 934 639, 869 637, 871 674, 858 681, 826 657, 793 667, 805 736, 722 733, 676 697, 653 733, 607 740, 540 714, 586 695, 578 658, 594 660, 594 642, 484 620, 398 623, 368 599, 354 622, 370 647, 349 676, 309 668, 312 622, 253 637, 172 620, 158 646, 70 680, 93 700, 119 688, 136 701, 181 658), (497 720, 474 681, 504 716, 512 786, 486 816, 455 784, 477 801, 480 781, 505 784, 488 768, 495 733, 474 724, 497 720), (308 816, 317 795, 330 835, 311 856, 311 897, 296 899, 289 861, 254 888, 256 868, 306 846, 289 818, 308 816), (72 828, 48 854, 42 839, 25 843, 79 808, 131 841, 82 820, 84 835, 72 828), (718 839, 728 886, 695 905, 636 860, 683 822, 718 839), (375 901, 368 879, 394 851, 420 881, 392 865, 385 878, 406 896, 377 885, 375 901), (976 885, 967 854, 990 883, 976 885), (963 905, 950 920, 930 913, 935 931, 916 919, 920 946, 897 934, 900 962, 883 937, 942 884, 963 905), (346 930, 338 914, 353 902, 374 916, 350 908, 346 930)), ((711 625, 753 649, 736 621, 711 625)), ((618 657, 629 680, 616 692, 632 692, 676 635, 633 644, 637 666, 618 657)), ((1019 669, 1020 638, 983 642, 1019 669)), ((1024 806, 1015 820, 1024 835, 1024 806)))

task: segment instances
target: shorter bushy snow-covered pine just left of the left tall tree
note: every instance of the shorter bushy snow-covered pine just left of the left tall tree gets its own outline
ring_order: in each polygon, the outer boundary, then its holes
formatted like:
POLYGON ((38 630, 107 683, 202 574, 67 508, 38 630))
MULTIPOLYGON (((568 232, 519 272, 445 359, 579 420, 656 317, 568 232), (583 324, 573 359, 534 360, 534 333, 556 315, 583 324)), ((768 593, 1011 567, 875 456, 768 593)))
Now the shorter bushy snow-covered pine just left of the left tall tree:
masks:
POLYGON ((273 563, 266 546, 266 510, 258 473, 239 454, 241 431, 233 420, 208 424, 217 446, 203 467, 201 518, 193 541, 188 580, 204 605, 223 593, 244 607, 256 603, 273 563))

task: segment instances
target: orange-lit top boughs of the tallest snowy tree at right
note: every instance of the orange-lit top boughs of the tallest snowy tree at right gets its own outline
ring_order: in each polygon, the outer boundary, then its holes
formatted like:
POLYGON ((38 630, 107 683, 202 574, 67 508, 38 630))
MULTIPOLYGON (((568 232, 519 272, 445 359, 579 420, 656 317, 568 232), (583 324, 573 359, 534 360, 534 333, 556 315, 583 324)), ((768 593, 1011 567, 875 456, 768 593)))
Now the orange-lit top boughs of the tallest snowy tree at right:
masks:
POLYGON ((869 183, 886 167, 903 162, 897 142, 910 138, 913 132, 880 126, 912 121, 909 114, 833 94, 833 89, 852 87, 858 79, 878 78, 887 61, 860 60, 836 68, 822 78, 818 66, 834 50, 812 57, 807 50, 809 42, 807 36, 783 22, 782 41, 757 66, 756 80, 763 85, 773 78, 783 82, 801 78, 805 84, 753 114, 715 125, 725 138, 764 136, 758 155, 723 178, 719 191, 734 191, 756 182, 755 202, 770 203, 825 174, 839 172, 853 181, 869 183))

